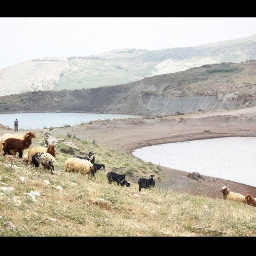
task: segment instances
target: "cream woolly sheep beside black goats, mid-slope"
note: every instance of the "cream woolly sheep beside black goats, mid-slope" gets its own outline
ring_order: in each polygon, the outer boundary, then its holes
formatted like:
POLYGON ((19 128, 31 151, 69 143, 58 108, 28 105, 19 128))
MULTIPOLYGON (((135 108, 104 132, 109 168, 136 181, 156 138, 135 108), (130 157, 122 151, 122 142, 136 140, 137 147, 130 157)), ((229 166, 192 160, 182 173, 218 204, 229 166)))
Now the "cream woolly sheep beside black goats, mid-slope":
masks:
POLYGON ((90 174, 94 171, 93 164, 88 160, 82 160, 76 157, 68 158, 65 162, 66 172, 81 172, 82 174, 90 174))

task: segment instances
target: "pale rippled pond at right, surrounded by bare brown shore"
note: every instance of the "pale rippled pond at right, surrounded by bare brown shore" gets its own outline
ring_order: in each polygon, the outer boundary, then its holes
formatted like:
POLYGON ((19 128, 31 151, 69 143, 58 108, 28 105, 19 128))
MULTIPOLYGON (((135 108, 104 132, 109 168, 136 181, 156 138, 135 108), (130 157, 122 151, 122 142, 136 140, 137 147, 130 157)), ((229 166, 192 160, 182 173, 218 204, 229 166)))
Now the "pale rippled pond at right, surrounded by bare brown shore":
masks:
POLYGON ((160 166, 256 187, 256 137, 227 137, 148 146, 133 155, 160 166))

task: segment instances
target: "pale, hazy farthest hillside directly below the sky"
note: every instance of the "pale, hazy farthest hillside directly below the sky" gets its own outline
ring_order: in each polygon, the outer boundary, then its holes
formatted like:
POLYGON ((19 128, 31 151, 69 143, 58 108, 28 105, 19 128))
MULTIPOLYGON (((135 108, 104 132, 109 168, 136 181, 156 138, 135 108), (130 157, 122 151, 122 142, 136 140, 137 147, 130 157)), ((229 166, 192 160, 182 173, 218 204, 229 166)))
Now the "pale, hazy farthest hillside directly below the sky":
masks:
POLYGON ((158 74, 256 58, 256 35, 164 50, 119 49, 94 56, 37 58, 0 70, 0 96, 112 86, 158 74))

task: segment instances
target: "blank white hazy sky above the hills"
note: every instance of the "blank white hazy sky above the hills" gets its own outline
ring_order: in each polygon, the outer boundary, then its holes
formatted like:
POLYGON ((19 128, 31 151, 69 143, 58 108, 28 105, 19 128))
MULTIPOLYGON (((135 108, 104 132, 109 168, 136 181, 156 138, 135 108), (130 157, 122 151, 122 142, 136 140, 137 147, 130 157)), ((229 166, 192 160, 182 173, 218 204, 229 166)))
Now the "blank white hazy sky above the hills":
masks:
POLYGON ((39 57, 156 50, 256 34, 256 18, 0 18, 0 69, 39 57))

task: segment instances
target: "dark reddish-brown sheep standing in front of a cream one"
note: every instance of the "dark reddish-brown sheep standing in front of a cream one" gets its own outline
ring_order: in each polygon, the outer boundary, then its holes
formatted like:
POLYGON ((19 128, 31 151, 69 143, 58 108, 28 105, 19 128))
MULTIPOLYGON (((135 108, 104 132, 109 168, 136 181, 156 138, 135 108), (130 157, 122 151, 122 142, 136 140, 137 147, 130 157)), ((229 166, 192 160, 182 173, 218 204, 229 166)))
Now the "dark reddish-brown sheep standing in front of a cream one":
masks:
POLYGON ((3 150, 4 150, 4 156, 6 154, 11 155, 11 150, 13 152, 19 152, 19 158, 22 158, 23 150, 29 148, 29 146, 32 144, 32 138, 35 137, 32 136, 32 132, 27 132, 24 136, 23 140, 16 139, 16 138, 8 138, 7 140, 4 140, 2 142, 3 150))

